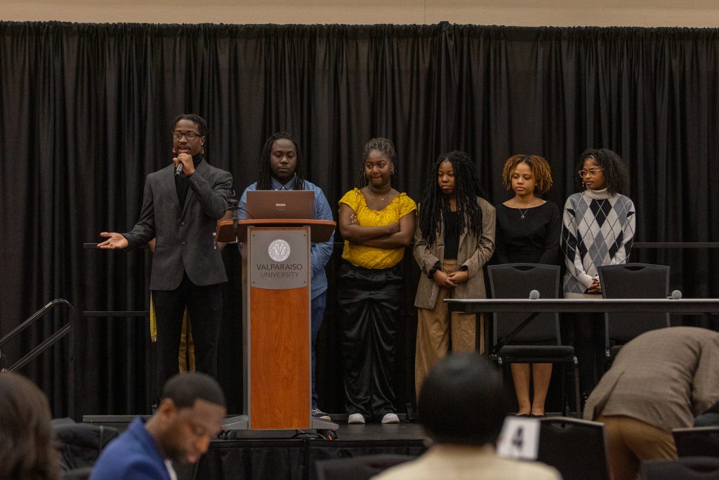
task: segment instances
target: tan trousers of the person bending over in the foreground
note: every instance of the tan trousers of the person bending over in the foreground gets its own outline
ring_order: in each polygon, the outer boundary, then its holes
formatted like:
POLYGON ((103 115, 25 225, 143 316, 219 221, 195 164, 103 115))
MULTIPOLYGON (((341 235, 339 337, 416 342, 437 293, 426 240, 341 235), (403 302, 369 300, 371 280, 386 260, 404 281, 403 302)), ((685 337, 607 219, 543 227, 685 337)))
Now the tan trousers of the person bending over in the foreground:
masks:
POLYGON ((612 480, 635 480, 643 460, 677 458, 671 432, 632 417, 601 416, 607 439, 607 460, 612 480))

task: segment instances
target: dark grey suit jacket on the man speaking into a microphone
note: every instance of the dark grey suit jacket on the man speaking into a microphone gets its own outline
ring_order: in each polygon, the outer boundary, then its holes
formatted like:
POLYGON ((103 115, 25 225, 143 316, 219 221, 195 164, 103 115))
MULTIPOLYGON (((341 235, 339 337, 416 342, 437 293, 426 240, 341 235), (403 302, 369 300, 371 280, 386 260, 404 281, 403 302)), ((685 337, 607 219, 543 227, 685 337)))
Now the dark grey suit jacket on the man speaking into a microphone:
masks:
POLYGON ((196 285, 227 281, 214 232, 232 195, 232 174, 203 160, 188 178, 185 205, 180 208, 173 164, 150 173, 139 221, 123 233, 128 250, 157 238, 152 255, 151 290, 173 290, 183 272, 196 285))

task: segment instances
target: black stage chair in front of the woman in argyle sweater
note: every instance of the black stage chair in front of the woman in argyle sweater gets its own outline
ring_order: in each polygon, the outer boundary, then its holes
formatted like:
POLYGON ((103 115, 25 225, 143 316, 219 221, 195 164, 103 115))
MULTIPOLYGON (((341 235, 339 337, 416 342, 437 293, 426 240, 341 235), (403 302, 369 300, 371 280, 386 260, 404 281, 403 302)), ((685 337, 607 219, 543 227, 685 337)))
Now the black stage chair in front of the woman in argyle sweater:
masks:
MULTIPOLYGON (((669 267, 650 263, 600 266, 599 281, 605 299, 663 299, 669 294, 669 267)), ((606 313, 605 371, 621 345, 649 330, 670 327, 669 313, 606 313)))

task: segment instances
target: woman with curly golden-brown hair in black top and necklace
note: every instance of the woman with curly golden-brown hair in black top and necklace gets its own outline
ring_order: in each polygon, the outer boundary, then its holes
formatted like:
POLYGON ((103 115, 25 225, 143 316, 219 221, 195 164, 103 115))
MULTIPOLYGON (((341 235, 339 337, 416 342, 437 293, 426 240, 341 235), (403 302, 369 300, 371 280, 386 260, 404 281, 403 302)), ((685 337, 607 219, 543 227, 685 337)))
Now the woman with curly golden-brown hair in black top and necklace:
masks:
MULTIPOLYGON (((513 155, 504 164, 502 181, 514 196, 497 205, 497 262, 557 265, 562 219, 557 204, 541 198, 551 188, 549 163, 539 155, 513 155)), ((517 415, 543 417, 551 363, 511 366, 517 415)))

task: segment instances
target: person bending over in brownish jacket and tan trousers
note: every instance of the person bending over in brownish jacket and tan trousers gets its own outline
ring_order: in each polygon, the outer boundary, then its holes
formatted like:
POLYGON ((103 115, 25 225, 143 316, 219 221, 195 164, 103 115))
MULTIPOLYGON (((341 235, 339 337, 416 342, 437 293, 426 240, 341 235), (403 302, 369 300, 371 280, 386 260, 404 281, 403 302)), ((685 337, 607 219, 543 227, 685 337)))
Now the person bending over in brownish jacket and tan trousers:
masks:
POLYGON ((624 345, 587 400, 584 417, 604 423, 612 479, 635 479, 641 461, 677 458, 673 428, 719 401, 719 332, 651 330, 624 345))

